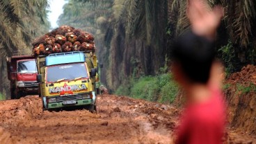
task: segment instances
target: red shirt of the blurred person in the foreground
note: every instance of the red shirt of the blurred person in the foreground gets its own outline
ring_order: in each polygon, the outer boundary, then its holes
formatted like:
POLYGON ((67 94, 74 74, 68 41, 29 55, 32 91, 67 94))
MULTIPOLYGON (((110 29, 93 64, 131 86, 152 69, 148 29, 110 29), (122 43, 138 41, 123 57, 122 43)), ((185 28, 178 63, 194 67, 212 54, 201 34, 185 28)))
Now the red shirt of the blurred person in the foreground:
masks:
POLYGON ((176 143, 219 144, 225 129, 225 105, 221 91, 209 100, 188 105, 178 128, 176 143))

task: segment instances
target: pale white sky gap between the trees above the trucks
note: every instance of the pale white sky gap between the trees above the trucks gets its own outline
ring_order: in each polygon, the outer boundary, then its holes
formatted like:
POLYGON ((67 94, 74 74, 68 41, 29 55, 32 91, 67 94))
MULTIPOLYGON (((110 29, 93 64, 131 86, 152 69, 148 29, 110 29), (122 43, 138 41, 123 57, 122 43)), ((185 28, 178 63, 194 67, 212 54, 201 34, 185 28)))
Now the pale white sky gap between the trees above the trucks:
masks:
POLYGON ((58 27, 57 21, 58 17, 63 13, 63 6, 67 1, 65 0, 49 0, 50 12, 48 13, 48 20, 51 23, 51 28, 58 27))

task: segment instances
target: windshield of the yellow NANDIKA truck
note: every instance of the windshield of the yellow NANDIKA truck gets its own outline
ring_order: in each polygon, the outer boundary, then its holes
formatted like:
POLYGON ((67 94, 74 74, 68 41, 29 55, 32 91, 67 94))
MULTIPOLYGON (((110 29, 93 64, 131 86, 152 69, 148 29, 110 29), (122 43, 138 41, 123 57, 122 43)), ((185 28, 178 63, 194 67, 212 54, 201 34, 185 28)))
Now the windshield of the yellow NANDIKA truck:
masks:
POLYGON ((47 82, 74 80, 75 78, 88 78, 86 64, 64 64, 47 67, 47 82))

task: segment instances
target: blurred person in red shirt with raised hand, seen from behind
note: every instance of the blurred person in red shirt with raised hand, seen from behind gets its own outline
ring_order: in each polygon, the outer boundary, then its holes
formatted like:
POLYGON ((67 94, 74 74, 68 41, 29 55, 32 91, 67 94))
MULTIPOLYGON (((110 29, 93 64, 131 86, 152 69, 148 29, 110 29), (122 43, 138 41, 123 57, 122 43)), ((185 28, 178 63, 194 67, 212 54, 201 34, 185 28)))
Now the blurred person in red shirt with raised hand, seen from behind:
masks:
POLYGON ((191 30, 172 46, 172 73, 184 89, 186 106, 175 143, 222 143, 225 104, 221 93, 221 64, 215 58, 216 28, 223 8, 208 10, 202 0, 188 1, 191 30))

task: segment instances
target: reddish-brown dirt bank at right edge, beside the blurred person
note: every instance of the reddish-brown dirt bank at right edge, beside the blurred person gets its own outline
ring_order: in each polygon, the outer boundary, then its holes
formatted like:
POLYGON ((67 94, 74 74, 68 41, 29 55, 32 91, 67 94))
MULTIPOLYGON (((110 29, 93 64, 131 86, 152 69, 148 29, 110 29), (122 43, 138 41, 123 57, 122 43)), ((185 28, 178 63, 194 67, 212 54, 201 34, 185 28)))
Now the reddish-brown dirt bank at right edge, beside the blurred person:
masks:
POLYGON ((230 127, 256 136, 256 66, 245 66, 230 75, 224 89, 230 127))

